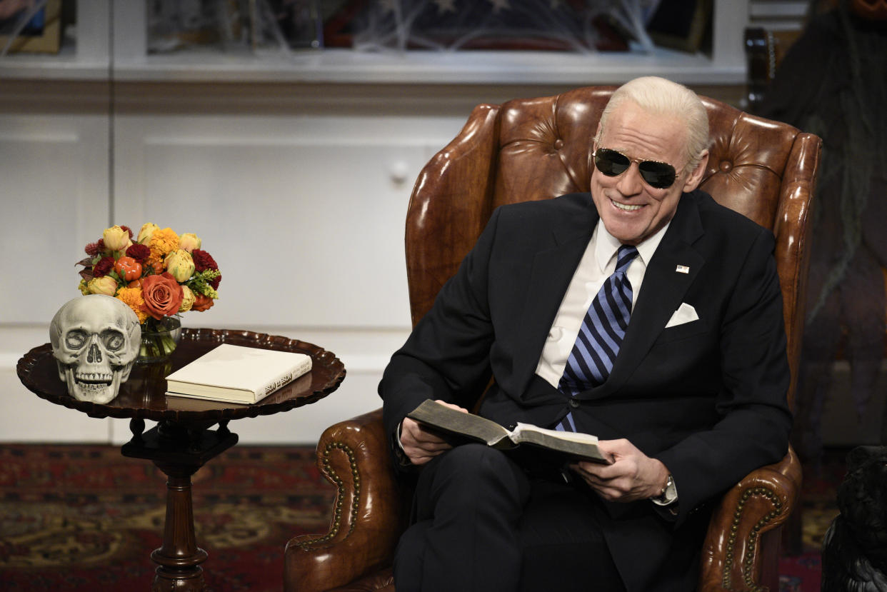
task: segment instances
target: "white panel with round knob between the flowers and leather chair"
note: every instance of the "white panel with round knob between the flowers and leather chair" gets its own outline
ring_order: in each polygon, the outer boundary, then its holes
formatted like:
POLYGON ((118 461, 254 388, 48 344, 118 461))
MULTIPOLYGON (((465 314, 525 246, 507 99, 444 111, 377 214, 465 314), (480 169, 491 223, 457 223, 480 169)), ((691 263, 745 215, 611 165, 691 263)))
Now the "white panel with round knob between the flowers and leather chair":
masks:
POLYGON ((216 257, 222 296, 186 323, 404 327, 412 180, 459 124, 122 115, 115 222, 198 233, 216 257))

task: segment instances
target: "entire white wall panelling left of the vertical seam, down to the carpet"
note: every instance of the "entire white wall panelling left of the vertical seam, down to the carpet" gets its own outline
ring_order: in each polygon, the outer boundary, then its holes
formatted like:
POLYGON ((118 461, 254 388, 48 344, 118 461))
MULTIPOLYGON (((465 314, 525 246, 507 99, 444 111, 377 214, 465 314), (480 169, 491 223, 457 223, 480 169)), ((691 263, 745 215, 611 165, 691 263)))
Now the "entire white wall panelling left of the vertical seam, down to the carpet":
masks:
POLYGON ((104 441, 108 426, 37 399, 15 364, 80 295, 74 264, 110 207, 107 117, 0 114, 0 178, 0 440, 104 441))

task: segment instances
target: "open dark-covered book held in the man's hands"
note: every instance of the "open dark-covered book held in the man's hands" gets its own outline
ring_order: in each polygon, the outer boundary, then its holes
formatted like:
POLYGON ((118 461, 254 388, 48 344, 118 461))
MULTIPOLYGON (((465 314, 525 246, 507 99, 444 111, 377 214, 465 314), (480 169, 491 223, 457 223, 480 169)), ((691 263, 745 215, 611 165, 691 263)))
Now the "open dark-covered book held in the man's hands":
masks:
POLYGON ((611 461, 598 450, 598 438, 591 434, 573 431, 546 430, 531 423, 518 423, 514 430, 506 430, 497 422, 480 415, 467 414, 445 405, 425 399, 419 407, 406 414, 444 435, 468 438, 500 450, 530 444, 552 450, 574 460, 600 462, 611 461))

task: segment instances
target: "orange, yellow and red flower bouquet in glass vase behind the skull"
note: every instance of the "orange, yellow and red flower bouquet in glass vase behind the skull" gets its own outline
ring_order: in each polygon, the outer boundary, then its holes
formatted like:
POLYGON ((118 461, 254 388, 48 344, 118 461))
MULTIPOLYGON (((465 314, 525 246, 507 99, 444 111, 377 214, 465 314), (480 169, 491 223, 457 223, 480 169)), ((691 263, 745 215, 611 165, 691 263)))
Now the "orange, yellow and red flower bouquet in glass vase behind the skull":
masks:
POLYGON ((179 236, 151 222, 133 242, 127 226, 106 228, 102 238, 86 245, 82 294, 106 294, 127 304, 142 326, 139 361, 166 359, 181 335, 178 315, 206 311, 218 298, 222 273, 197 235, 179 236))

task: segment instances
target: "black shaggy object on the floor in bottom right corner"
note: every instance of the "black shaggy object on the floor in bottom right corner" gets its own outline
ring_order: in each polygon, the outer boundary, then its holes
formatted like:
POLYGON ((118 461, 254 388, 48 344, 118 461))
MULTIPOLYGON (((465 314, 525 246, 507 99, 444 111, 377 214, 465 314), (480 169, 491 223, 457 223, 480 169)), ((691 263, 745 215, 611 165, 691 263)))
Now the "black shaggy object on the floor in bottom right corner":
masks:
POLYGON ((823 592, 887 591, 887 446, 847 455, 837 505, 822 544, 823 592))

